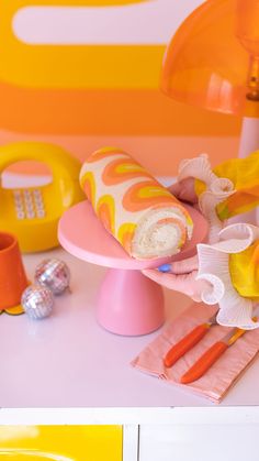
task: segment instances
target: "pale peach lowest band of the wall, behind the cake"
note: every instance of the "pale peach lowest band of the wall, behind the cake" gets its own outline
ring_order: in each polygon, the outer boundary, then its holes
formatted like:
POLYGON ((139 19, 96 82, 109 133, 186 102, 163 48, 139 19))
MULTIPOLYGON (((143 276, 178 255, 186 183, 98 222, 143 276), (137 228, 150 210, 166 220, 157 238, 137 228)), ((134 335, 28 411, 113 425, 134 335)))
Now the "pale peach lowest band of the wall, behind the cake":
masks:
MULTIPOLYGON (((135 156, 146 168, 157 175, 177 174, 182 158, 206 152, 213 165, 235 157, 238 152, 237 136, 36 136, 1 133, 1 143, 20 140, 45 140, 70 151, 81 161, 95 149, 116 145, 135 156)), ((35 166, 23 166, 23 172, 38 173, 35 166)), ((43 173, 43 171, 40 171, 43 173)))

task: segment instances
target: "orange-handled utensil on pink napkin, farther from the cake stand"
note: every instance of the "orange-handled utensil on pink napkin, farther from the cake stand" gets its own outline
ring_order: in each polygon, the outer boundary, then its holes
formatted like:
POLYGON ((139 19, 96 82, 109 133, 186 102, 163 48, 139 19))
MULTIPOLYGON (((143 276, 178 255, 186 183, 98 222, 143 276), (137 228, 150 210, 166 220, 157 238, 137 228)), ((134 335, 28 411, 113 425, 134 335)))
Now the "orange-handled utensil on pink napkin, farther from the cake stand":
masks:
POLYGON ((229 348, 234 342, 238 340, 247 330, 235 328, 234 331, 227 333, 221 341, 214 342, 214 344, 204 352, 203 355, 191 366, 190 370, 181 377, 182 384, 193 383, 199 380, 204 373, 219 359, 219 356, 229 348))

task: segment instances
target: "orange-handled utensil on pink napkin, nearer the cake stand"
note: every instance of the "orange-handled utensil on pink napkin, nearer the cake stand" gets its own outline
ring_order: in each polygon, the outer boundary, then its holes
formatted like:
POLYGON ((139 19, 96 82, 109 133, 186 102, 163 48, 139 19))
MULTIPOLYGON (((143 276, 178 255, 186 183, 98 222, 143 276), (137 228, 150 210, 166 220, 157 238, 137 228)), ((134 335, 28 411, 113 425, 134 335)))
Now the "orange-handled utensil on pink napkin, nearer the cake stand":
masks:
POLYGON ((184 336, 179 342, 172 345, 164 358, 164 365, 172 366, 184 353, 190 351, 209 331, 212 325, 216 323, 216 314, 214 314, 206 322, 199 325, 184 336))

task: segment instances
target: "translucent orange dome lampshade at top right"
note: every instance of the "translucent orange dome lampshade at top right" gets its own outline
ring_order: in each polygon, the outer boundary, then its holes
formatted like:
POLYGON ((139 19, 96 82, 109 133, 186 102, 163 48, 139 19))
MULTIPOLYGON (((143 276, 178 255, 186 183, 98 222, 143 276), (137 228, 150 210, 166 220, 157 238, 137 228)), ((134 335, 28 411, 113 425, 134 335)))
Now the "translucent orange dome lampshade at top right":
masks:
POLYGON ((259 95, 258 0, 207 0, 166 51, 162 91, 182 102, 241 114, 255 86, 259 95))

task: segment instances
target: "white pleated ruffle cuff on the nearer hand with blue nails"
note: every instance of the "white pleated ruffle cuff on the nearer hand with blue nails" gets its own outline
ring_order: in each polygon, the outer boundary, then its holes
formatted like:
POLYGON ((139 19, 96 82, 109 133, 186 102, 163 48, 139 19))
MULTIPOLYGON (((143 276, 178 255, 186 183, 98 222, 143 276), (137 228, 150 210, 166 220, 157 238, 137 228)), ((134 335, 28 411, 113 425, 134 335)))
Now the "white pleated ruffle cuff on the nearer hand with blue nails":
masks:
POLYGON ((256 303, 241 297, 232 283, 229 254, 240 253, 259 239, 259 228, 239 223, 226 227, 214 244, 198 244, 199 272, 196 279, 207 281, 212 288, 202 293, 205 304, 218 304, 217 322, 245 330, 259 328, 252 320, 256 303))

